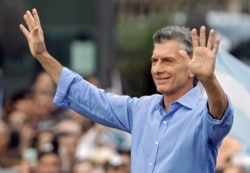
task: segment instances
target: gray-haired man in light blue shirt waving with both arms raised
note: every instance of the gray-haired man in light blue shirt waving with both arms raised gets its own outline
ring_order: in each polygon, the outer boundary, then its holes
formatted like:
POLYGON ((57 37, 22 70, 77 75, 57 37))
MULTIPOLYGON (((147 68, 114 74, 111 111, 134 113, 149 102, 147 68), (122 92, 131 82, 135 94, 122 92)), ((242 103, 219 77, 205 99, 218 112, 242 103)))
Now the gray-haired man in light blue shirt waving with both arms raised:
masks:
POLYGON ((58 85, 54 103, 132 134, 132 173, 212 173, 233 110, 214 74, 219 39, 205 27, 165 27, 154 35, 151 73, 161 94, 131 98, 105 93, 63 67, 46 50, 35 9, 20 29, 32 55, 58 85), (192 39, 191 39, 192 38, 192 39), (191 59, 189 58, 191 57, 191 59), (203 98, 196 78, 206 90, 203 98))

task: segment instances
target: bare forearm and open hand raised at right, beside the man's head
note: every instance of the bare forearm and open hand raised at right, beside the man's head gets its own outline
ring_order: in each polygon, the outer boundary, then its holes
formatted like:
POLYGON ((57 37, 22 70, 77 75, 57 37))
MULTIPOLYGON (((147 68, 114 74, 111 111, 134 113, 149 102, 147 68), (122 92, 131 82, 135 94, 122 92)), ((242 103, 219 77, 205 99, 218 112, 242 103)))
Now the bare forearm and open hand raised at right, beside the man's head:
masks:
MULTIPOLYGON (((206 41, 205 29, 204 26, 200 28, 199 40, 196 29, 192 30, 193 57, 188 62, 188 68, 206 90, 210 114, 213 118, 220 119, 228 104, 227 96, 214 74, 220 40, 215 40, 215 31, 210 30, 206 41)), ((181 54, 187 58, 183 51, 181 54)))

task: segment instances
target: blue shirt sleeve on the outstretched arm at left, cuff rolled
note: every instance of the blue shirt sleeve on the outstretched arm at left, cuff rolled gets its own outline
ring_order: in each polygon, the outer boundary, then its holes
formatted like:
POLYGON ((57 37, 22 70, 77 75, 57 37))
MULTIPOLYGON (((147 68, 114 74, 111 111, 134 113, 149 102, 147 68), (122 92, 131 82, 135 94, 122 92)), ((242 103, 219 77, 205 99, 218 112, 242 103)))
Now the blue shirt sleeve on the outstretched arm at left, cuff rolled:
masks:
POLYGON ((130 132, 131 100, 129 96, 106 93, 64 67, 53 103, 73 109, 97 123, 130 132))

